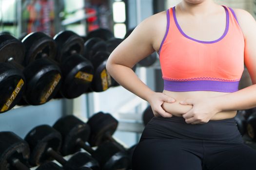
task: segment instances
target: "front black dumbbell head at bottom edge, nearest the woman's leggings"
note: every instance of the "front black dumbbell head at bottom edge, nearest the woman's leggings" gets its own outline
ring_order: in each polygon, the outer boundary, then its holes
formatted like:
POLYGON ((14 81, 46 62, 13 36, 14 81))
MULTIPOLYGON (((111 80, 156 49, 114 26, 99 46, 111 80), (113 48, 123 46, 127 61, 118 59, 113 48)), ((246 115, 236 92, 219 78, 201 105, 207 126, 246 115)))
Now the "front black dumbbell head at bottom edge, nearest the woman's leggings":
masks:
POLYGON ((92 156, 98 160, 101 170, 126 170, 129 165, 127 153, 109 141, 99 145, 92 156))

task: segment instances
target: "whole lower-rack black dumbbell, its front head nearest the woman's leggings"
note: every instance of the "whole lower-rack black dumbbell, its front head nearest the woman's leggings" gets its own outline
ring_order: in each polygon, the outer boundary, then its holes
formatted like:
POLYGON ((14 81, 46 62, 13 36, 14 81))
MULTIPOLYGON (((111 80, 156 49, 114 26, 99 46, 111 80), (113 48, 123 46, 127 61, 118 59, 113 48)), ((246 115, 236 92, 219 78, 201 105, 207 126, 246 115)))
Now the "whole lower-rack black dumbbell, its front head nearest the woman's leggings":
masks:
MULTIPOLYGON (((100 124, 98 124, 100 126, 100 124)), ((90 136, 90 126, 77 117, 70 115, 60 118, 53 127, 60 132, 63 139, 61 153, 68 155, 83 148, 95 158, 101 170, 119 170, 128 166, 128 157, 123 148, 116 143, 106 141, 93 150, 85 142, 90 136)), ((75 156, 74 156, 75 159, 75 156)), ((91 167, 95 170, 93 167, 91 167)))

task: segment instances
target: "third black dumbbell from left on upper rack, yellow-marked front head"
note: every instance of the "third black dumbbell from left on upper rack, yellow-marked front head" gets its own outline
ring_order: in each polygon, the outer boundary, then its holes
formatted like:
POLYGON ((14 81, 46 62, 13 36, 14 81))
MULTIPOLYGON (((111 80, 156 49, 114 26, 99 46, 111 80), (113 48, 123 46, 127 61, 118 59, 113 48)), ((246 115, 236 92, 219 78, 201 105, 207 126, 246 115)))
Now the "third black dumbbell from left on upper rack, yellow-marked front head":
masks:
POLYGON ((60 63, 63 84, 60 93, 63 97, 73 99, 85 93, 93 81, 94 68, 84 58, 83 39, 72 31, 62 31, 54 36, 58 45, 56 60, 60 63))

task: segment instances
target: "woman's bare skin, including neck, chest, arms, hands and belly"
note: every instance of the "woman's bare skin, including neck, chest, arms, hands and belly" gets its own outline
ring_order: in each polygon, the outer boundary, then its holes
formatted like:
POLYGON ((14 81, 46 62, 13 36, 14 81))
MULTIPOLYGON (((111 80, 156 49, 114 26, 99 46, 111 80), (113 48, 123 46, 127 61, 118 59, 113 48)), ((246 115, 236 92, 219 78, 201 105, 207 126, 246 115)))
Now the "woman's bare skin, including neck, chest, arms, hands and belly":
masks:
MULTIPOLYGON (((107 62, 107 71, 120 85, 148 101, 155 116, 182 116, 186 123, 191 124, 233 118, 237 110, 256 107, 256 21, 242 9, 234 11, 244 35, 244 64, 253 85, 234 93, 166 90, 157 93, 141 82, 131 68, 153 51, 159 51, 166 31, 166 12, 142 21, 112 52, 107 62)), ((213 0, 183 0, 176 6, 176 14, 183 32, 197 40, 216 40, 224 32, 225 10, 213 0)))

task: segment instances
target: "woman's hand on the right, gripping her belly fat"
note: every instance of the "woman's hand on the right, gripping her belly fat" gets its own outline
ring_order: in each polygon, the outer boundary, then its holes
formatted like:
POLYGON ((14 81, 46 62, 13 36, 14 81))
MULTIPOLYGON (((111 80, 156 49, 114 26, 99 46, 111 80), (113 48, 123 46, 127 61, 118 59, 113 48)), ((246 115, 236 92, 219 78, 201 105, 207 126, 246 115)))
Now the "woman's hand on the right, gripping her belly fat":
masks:
POLYGON ((215 114, 221 110, 217 108, 214 98, 186 99, 180 104, 192 105, 192 109, 183 114, 186 123, 203 124, 207 123, 215 114))

